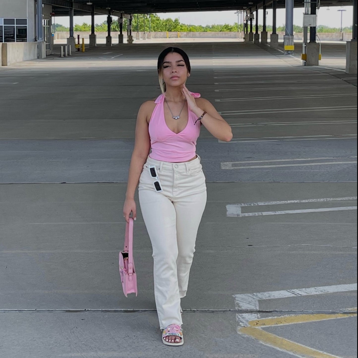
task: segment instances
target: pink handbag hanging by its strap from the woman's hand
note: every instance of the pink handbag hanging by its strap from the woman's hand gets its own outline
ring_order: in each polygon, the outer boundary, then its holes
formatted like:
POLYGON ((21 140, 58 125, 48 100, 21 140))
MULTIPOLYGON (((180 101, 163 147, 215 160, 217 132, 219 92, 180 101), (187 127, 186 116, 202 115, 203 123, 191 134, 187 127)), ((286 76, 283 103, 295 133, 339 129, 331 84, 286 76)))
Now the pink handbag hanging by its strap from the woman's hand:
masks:
POLYGON ((137 296, 137 275, 133 261, 133 218, 126 223, 126 234, 124 239, 124 250, 119 253, 119 273, 124 295, 135 293, 137 296))

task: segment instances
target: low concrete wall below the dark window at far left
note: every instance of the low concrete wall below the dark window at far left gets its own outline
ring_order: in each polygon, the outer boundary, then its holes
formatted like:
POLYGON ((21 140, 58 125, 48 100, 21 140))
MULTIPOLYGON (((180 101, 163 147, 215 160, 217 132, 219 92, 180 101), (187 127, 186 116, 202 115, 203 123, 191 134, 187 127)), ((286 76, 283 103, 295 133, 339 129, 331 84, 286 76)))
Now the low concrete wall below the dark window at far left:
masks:
POLYGON ((1 65, 37 58, 37 42, 5 42, 1 46, 1 65))

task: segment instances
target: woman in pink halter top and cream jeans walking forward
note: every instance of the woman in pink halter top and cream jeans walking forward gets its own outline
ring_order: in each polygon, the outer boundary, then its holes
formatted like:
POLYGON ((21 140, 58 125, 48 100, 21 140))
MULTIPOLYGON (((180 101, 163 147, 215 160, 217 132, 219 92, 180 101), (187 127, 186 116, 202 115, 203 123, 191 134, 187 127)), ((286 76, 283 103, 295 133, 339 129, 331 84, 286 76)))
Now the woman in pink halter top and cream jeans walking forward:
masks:
POLYGON ((123 214, 127 222, 131 212, 136 219, 134 193, 139 182, 140 208, 153 247, 162 342, 182 345, 180 299, 187 293, 207 199, 195 146, 201 124, 222 141, 230 141, 232 132, 209 101, 185 86, 190 62, 182 49, 169 47, 159 55, 158 74, 162 94, 144 102, 138 112, 123 214))

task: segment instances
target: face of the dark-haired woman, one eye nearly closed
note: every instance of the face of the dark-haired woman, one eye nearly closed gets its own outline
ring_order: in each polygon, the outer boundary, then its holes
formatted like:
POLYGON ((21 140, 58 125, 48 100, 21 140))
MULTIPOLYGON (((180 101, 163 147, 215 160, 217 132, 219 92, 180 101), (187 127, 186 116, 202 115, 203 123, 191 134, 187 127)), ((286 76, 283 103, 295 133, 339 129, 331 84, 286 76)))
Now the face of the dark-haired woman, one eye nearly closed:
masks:
POLYGON ((168 53, 163 61, 163 79, 166 86, 182 86, 187 81, 188 69, 182 55, 176 52, 168 53))

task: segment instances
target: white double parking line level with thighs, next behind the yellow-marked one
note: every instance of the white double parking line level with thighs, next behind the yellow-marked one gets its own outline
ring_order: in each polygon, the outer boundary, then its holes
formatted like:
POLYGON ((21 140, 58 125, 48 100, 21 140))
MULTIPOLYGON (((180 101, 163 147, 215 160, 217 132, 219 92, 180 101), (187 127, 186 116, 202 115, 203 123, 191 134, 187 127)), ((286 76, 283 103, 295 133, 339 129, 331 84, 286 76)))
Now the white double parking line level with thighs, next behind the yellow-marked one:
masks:
POLYGON ((283 200, 283 201, 272 201, 272 202, 228 204, 228 205, 226 205, 226 216, 241 218, 241 217, 246 217, 246 216, 265 216, 265 215, 276 215, 276 214, 300 214, 300 213, 312 213, 312 212, 324 212, 324 211, 357 210, 357 206, 346 206, 346 207, 332 207, 332 208, 263 211, 263 212, 251 212, 251 213, 242 213, 241 212, 241 208, 246 207, 246 206, 284 205, 284 204, 296 204, 296 203, 319 203, 319 202, 344 201, 344 200, 349 200, 349 201, 357 200, 357 197, 283 200))

